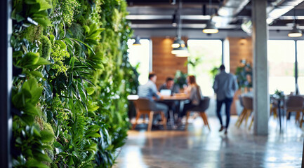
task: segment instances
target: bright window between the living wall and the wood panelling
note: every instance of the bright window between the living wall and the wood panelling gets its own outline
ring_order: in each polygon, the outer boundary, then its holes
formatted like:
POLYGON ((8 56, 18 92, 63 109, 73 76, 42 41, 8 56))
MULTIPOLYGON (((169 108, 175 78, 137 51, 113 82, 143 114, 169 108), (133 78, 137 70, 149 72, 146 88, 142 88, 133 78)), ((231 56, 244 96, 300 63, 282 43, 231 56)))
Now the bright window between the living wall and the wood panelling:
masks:
POLYGON ((141 39, 141 45, 133 45, 134 39, 128 40, 128 59, 132 66, 137 67, 139 83, 145 84, 150 71, 150 40, 141 39))

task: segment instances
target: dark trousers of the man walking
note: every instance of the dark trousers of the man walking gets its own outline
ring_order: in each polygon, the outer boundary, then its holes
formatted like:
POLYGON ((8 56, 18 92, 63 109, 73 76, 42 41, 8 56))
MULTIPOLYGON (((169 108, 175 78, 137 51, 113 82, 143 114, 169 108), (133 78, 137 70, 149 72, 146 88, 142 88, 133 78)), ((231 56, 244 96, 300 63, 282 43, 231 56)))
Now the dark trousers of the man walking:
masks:
POLYGON ((222 109, 222 104, 225 104, 225 112, 226 112, 226 128, 229 126, 230 122, 230 107, 232 104, 233 98, 225 98, 223 100, 216 100, 216 114, 218 115, 218 119, 220 120, 220 125, 223 126, 222 116, 220 115, 220 109, 222 109))

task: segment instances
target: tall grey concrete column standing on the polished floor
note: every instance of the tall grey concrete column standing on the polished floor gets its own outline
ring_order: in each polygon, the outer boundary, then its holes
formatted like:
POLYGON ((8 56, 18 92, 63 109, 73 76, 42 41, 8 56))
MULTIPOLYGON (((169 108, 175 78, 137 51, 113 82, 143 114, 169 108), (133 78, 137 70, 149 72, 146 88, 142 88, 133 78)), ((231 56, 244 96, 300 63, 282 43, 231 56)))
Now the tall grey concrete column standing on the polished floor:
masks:
POLYGON ((252 2, 253 23, 253 110, 254 134, 268 134, 269 93, 267 66, 267 1, 254 0, 252 2))

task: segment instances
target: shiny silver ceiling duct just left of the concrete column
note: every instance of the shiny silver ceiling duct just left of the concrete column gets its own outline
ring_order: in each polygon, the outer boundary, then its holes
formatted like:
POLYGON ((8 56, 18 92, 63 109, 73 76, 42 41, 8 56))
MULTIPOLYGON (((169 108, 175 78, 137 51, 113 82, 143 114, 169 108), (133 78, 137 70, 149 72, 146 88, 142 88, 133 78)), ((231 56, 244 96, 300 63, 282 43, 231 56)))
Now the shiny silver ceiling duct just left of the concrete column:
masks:
POLYGON ((249 3, 250 0, 227 0, 218 9, 218 15, 213 16, 212 21, 217 27, 225 27, 236 20, 236 15, 249 3))

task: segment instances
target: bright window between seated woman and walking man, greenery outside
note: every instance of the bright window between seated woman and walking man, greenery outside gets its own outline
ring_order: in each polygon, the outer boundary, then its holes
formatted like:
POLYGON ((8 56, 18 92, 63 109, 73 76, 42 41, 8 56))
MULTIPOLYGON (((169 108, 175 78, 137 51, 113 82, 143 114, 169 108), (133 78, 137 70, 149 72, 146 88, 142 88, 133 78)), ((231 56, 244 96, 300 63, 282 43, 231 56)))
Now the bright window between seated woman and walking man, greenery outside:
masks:
POLYGON ((191 55, 188 58, 188 73, 196 76, 202 94, 212 97, 214 76, 211 70, 222 64, 222 41, 188 40, 187 45, 191 55))

